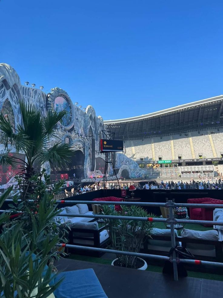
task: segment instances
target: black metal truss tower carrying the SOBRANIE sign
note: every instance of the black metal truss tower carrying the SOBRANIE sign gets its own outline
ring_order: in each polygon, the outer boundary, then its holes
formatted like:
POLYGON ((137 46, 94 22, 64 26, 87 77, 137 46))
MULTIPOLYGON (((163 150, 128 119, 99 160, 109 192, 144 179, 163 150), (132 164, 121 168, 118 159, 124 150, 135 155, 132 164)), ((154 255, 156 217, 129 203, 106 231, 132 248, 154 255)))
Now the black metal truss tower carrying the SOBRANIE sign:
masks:
POLYGON ((106 189, 107 185, 107 177, 108 177, 108 166, 109 164, 112 165, 112 169, 114 170, 117 182, 118 182, 118 189, 120 189, 120 184, 118 181, 118 177, 115 171, 115 167, 113 164, 113 152, 123 152, 123 141, 115 140, 115 133, 109 132, 106 130, 102 130, 102 137, 101 139, 101 146, 100 152, 105 153, 105 171, 103 176, 103 188, 106 189))

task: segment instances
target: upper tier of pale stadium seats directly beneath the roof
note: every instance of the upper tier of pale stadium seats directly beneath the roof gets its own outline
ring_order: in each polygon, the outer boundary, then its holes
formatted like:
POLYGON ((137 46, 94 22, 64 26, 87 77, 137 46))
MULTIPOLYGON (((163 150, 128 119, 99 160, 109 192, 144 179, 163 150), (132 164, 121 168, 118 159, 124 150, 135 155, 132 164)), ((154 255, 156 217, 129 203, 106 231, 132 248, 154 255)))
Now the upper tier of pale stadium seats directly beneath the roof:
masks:
MULTIPOLYGON (((219 128, 223 132, 223 128, 219 128)), ((221 157, 223 155, 223 133, 222 132, 210 132, 209 129, 198 131, 192 131, 183 135, 161 135, 153 138, 145 139, 132 139, 125 140, 124 146, 126 149, 126 156, 140 160, 143 158, 144 161, 158 160, 159 157, 162 159, 199 159, 202 158, 213 158, 221 157), (212 133, 211 133, 212 132, 212 133), (211 135, 214 151, 212 150, 211 135), (193 149, 191 149, 190 138, 192 140, 193 149), (173 149, 171 149, 171 139, 173 141, 173 149), (155 158, 152 154, 152 146, 154 145, 155 158), (194 150, 194 157, 192 155, 194 150)))

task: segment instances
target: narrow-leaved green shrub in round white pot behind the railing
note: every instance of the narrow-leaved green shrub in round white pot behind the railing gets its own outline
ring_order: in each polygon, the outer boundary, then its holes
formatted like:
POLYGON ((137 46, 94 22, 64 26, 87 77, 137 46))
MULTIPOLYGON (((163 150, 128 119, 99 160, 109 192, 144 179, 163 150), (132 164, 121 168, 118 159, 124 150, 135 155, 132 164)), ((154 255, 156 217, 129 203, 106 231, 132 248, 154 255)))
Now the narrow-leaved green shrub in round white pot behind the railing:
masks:
MULTIPOLYGON (((153 215, 149 215, 147 211, 139 206, 122 206, 121 211, 115 211, 113 205, 104 205, 103 214, 147 218, 153 217, 153 215)), ((127 252, 139 252, 144 241, 146 241, 147 237, 150 235, 154 223, 151 221, 106 218, 105 225, 111 239, 112 249, 127 252)), ((112 265, 140 270, 145 270, 147 268, 147 263, 143 259, 119 254, 117 254, 117 259, 112 262, 112 265)))

